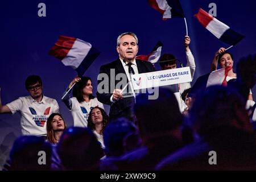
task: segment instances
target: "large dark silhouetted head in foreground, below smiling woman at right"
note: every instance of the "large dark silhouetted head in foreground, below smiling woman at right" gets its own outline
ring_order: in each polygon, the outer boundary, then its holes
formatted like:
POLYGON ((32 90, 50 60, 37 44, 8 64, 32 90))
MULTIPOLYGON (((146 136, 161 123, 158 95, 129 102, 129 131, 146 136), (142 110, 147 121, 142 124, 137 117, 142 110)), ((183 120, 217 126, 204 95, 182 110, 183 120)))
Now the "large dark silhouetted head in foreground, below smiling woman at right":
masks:
POLYGON ((221 127, 252 131, 241 94, 229 87, 207 88, 196 97, 189 114, 195 130, 201 136, 221 127))

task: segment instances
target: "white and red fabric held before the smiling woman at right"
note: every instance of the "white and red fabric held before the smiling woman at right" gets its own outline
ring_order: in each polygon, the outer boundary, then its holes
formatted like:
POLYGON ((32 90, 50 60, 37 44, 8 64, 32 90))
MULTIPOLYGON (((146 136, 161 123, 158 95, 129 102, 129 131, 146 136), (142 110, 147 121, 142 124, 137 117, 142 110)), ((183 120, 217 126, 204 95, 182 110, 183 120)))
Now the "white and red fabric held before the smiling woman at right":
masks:
POLYGON ((230 69, 232 69, 232 67, 221 68, 211 72, 207 80, 207 87, 212 85, 228 85, 226 77, 230 69))

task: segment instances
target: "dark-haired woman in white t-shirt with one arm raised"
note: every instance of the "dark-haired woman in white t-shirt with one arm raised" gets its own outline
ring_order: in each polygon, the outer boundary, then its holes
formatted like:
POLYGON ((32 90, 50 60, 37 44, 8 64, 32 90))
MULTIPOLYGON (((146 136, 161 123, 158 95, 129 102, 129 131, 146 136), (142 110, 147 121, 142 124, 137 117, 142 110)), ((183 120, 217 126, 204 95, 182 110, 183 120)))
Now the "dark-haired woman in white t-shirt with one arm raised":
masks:
POLYGON ((68 90, 69 93, 63 98, 63 102, 71 111, 74 126, 87 127, 87 120, 90 110, 96 106, 99 106, 102 109, 104 109, 103 104, 92 95, 92 80, 90 79, 90 77, 80 78, 76 76, 68 85, 68 88, 65 93, 67 93, 68 90), (73 97, 71 98, 71 91, 69 89, 73 86, 73 84, 75 85, 73 87, 73 97))

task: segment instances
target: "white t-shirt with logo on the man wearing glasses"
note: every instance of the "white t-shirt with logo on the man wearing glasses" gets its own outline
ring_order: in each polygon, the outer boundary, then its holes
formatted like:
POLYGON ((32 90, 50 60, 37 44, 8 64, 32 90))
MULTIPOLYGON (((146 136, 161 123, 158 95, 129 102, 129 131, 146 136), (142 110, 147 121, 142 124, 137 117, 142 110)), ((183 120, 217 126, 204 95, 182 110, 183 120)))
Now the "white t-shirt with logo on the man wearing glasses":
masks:
POLYGON ((43 96, 40 102, 36 102, 31 96, 19 97, 6 105, 12 114, 17 111, 21 114, 22 135, 46 136, 46 121, 49 115, 59 113, 57 101, 46 96, 43 96))

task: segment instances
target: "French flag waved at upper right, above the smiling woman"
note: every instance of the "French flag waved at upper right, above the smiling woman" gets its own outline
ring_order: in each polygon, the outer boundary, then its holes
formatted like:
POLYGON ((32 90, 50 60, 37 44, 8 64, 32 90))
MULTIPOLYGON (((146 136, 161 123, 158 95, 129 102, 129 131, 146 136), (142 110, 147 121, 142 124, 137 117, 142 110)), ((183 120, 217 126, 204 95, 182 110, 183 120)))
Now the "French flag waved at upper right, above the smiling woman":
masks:
POLYGON ((194 16, 207 30, 226 44, 234 46, 245 37, 233 31, 229 26, 209 15, 203 9, 199 9, 194 16))

